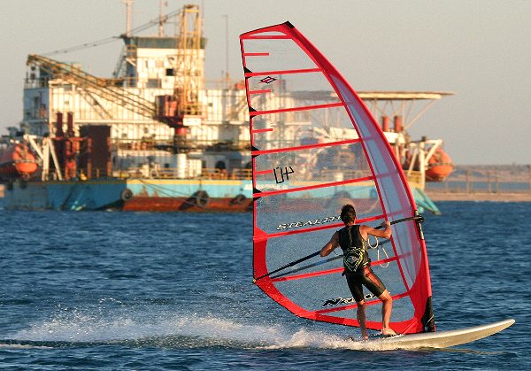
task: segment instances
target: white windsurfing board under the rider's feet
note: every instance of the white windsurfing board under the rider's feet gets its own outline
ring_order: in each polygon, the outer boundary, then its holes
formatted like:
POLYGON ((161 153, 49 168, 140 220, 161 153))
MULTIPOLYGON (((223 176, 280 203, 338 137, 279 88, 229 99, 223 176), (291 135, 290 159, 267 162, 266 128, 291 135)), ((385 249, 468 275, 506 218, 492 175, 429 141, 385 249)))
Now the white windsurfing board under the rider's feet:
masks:
POLYGON ((398 335, 366 342, 371 348, 378 350, 394 349, 419 349, 419 348, 447 348, 459 344, 470 343, 483 337, 491 336, 497 332, 508 328, 514 320, 504 320, 489 323, 487 325, 475 326, 472 328, 459 328, 448 331, 425 332, 412 335, 398 335))

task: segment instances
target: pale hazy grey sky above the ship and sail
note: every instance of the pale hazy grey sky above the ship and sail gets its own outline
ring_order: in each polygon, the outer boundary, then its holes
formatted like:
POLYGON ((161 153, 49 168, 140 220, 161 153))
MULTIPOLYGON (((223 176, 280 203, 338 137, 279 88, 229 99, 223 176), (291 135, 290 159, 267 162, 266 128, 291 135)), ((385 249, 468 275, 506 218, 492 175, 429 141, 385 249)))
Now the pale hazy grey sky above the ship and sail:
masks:
MULTIPOLYGON (((165 2, 165 12, 183 4, 201 6, 207 79, 226 70, 242 78, 238 36, 289 20, 355 90, 454 92, 409 129, 412 139, 443 139, 458 165, 531 164, 531 0, 165 2)), ((156 19, 159 3, 135 0, 133 27, 156 19)), ((126 6, 121 0, 0 4, 0 134, 5 134, 22 118, 27 55, 119 36, 126 29, 126 6)), ((49 57, 81 62, 89 73, 111 77, 121 47, 117 39, 49 57)))

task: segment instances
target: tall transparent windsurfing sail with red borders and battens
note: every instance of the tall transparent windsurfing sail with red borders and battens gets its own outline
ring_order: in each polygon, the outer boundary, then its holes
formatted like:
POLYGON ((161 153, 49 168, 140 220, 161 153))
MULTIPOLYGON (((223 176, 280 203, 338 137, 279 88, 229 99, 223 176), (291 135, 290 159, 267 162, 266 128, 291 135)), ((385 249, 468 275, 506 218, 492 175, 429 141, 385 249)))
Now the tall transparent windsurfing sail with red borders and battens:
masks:
MULTIPOLYGON (((250 110, 257 285, 298 316, 358 326, 340 256, 318 250, 342 228, 342 205, 358 223, 415 215, 404 173, 373 116, 319 50, 289 22, 241 35, 250 110)), ((414 220, 370 250, 373 270, 394 298, 391 326, 423 330, 431 285, 414 220), (424 317, 424 318, 423 318, 424 317)), ((374 242, 373 242, 374 243, 374 242)), ((368 293, 368 292, 367 292, 368 293)), ((381 328, 381 301, 366 297, 367 327, 381 328)))

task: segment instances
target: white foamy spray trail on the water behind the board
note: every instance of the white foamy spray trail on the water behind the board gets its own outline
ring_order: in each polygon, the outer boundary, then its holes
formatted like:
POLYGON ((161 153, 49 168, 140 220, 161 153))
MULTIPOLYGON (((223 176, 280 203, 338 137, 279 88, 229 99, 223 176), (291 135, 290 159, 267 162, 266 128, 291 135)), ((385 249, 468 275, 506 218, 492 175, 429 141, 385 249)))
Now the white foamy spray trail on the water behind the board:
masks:
POLYGON ((134 347, 223 347, 247 350, 367 349, 364 342, 307 328, 245 324, 213 316, 178 314, 147 321, 145 318, 125 316, 96 319, 89 315, 77 315, 72 319, 43 321, 7 337, 0 340, 0 348, 53 349, 119 344, 134 347))

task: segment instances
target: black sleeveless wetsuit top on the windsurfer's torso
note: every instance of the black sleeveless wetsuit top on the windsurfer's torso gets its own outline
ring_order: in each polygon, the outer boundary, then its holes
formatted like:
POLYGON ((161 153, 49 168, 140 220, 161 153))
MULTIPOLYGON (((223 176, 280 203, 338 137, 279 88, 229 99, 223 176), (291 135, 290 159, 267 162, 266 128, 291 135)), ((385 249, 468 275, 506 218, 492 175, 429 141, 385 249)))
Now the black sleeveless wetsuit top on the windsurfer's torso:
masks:
POLYGON ((346 226, 337 231, 339 246, 343 251, 343 267, 348 272, 369 267, 371 259, 366 249, 366 242, 359 233, 359 226, 346 226))

